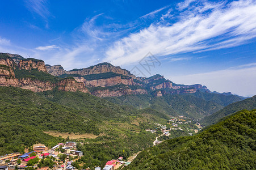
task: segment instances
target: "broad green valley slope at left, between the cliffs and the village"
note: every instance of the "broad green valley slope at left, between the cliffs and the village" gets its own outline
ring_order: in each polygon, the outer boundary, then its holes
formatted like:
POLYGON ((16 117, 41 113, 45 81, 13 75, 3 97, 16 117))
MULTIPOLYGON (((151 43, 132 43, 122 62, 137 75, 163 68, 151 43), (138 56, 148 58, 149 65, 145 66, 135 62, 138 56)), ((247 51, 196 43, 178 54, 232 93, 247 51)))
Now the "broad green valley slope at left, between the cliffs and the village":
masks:
MULTIPOLYGON (((169 118, 153 109, 121 107, 82 92, 34 93, 16 87, 0 87, 0 94, 0 155, 23 152, 24 147, 38 142, 52 147, 63 140, 43 131, 94 133, 99 137, 88 139, 81 150, 89 152, 91 145, 101 148, 104 158, 96 157, 98 152, 90 156, 104 164, 123 150, 127 157, 152 146, 156 134, 144 129, 151 128, 154 122, 167 122, 169 118), (119 150, 110 152, 109 147, 102 148, 102 145, 114 145, 119 150)), ((84 160, 87 164, 89 161, 84 160)))

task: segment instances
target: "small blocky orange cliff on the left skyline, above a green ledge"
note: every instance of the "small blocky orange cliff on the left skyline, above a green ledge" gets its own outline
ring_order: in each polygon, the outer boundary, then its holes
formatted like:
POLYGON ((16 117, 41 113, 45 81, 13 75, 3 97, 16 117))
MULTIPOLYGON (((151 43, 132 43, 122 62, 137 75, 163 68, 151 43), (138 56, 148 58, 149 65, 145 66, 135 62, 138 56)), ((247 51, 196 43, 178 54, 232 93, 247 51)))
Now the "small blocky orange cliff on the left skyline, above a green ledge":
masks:
POLYGON ((44 65, 43 60, 27 58, 24 60, 20 60, 18 64, 19 69, 32 70, 37 69, 38 71, 47 72, 47 69, 44 65))

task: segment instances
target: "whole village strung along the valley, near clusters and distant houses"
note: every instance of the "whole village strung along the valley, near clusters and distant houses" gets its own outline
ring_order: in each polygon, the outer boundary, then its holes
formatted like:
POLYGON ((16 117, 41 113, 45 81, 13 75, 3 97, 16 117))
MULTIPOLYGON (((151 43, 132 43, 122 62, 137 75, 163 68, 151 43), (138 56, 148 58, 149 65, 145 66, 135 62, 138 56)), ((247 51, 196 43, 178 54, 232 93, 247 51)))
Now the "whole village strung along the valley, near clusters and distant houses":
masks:
MULTIPOLYGON (((167 124, 154 124, 155 128, 146 129, 150 133, 156 133, 156 140, 153 146, 160 144, 165 139, 169 139, 175 133, 183 133, 184 135, 192 135, 198 133, 200 124, 187 120, 186 117, 171 117, 167 124), (180 131, 180 132, 179 132, 180 131)), ((18 152, 0 157, 0 170, 75 170, 74 163, 83 156, 82 151, 77 150, 76 142, 58 143, 52 148, 48 148, 43 144, 33 145, 32 151, 25 150, 25 154, 18 152), (41 160, 41 161, 40 161, 41 160), (42 163, 43 162, 43 163, 42 163)), ((133 156, 133 159, 136 157, 133 156)), ((132 157, 132 156, 131 156, 132 157)), ((114 170, 122 169, 129 165, 133 159, 123 161, 123 157, 109 160, 104 168, 95 167, 95 170, 114 170)), ((85 170, 93 170, 86 168, 85 170)))

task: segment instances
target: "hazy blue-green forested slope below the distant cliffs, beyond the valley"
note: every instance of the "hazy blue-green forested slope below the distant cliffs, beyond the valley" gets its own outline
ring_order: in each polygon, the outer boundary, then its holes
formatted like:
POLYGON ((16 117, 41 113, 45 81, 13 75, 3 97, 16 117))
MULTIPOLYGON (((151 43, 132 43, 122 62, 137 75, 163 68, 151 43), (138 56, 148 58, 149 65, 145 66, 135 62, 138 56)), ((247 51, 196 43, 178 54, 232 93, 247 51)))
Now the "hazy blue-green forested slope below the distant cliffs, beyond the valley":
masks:
POLYGON ((106 99, 116 104, 132 105, 136 108, 152 108, 171 116, 182 115, 190 118, 202 118, 224 107, 215 101, 207 101, 191 94, 164 95, 160 97, 127 95, 107 97, 106 99))

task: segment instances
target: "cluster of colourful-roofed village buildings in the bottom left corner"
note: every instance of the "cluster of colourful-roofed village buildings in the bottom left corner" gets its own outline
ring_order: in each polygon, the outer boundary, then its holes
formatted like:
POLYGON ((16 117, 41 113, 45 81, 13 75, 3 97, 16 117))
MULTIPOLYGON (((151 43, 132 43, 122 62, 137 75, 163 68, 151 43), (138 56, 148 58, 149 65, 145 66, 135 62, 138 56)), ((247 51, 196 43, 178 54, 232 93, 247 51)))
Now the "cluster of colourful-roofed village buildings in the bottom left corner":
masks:
MULTIPOLYGON (((28 168, 28 162, 32 162, 32 160, 35 159, 42 159, 47 158, 48 156, 51 158, 54 158, 54 164, 51 169, 58 169, 58 170, 64 170, 69 169, 73 170, 75 169, 72 167, 69 158, 78 159, 80 156, 83 155, 82 151, 76 150, 76 142, 66 142, 66 143, 58 143, 58 145, 48 149, 43 144, 37 144, 33 145, 33 151, 27 152, 26 154, 20 154, 20 153, 12 153, 9 155, 3 155, 0 157, 0 170, 14 170, 14 169, 20 169, 25 170, 28 168), (62 152, 60 151, 60 148, 62 151, 64 151, 64 154, 66 155, 65 160, 61 160, 61 158, 58 158, 59 155, 62 155, 62 152), (32 156, 33 155, 33 156, 32 156), (71 156, 71 157, 70 157, 71 156)), ((33 165, 32 168, 38 168, 40 170, 48 170, 49 167, 37 167, 37 163, 33 165)))

